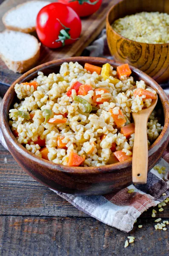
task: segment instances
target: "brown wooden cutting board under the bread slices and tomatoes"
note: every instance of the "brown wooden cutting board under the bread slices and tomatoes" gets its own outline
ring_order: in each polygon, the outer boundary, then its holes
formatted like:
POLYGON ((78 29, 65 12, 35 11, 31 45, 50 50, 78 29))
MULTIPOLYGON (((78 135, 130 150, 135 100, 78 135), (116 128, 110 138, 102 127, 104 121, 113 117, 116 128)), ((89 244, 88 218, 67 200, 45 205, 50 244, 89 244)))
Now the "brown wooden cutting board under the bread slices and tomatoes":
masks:
MULTIPOLYGON (((25 0, 5 0, 0 5, 0 32, 5 29, 2 23, 3 14, 14 6, 26 2, 25 0)), ((56 2, 56 0, 51 0, 56 2)), ((101 30, 106 26, 106 14, 110 7, 118 0, 103 0, 100 9, 93 15, 82 19, 82 33, 80 39, 74 44, 59 48, 49 49, 41 45, 40 59, 36 66, 47 61, 52 61, 58 58, 66 58, 72 56, 80 56, 85 47, 87 47, 100 34, 101 30)), ((0 83, 9 86, 20 76, 19 73, 14 73, 0 60, 0 83)))

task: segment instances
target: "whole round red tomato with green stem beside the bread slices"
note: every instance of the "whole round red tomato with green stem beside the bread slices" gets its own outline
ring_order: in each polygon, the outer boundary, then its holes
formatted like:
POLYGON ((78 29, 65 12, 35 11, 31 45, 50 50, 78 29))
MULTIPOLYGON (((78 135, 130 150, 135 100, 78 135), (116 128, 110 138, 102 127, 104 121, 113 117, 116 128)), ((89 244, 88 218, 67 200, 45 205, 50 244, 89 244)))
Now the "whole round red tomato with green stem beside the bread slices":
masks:
POLYGON ((81 21, 76 12, 62 3, 44 6, 37 15, 36 32, 49 48, 72 44, 81 33, 81 21))

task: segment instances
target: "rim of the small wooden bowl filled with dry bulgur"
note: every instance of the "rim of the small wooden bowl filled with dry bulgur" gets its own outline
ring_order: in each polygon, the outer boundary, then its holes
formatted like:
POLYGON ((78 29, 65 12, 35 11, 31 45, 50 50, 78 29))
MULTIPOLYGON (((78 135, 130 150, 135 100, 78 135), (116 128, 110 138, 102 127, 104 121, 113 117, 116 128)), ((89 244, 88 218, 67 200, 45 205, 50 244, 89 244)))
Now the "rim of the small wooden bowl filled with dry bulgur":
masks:
MULTIPOLYGON (((158 47, 163 45, 163 46, 169 46, 169 43, 163 43, 163 44, 152 44, 152 43, 143 43, 143 42, 139 42, 139 41, 134 41, 134 40, 131 40, 129 38, 125 38, 123 35, 120 35, 119 33, 117 33, 113 28, 112 28, 112 25, 110 24, 109 22, 109 16, 110 16, 110 13, 112 12, 112 10, 115 8, 115 6, 119 5, 120 3, 122 3, 124 0, 120 0, 118 3, 116 3, 115 5, 113 5, 110 9, 109 9, 109 12, 107 13, 106 15, 106 26, 109 26, 110 30, 115 33, 116 35, 118 35, 120 38, 123 38, 125 40, 129 40, 131 42, 134 42, 134 43, 138 43, 138 44, 143 44, 143 45, 146 45, 146 44, 149 44, 151 46, 154 46, 154 45, 157 45, 158 47)), ((126 16, 126 15, 125 15, 126 16)), ((124 17, 125 17, 124 16, 124 17)), ((115 20, 114 20, 115 21, 115 20)))

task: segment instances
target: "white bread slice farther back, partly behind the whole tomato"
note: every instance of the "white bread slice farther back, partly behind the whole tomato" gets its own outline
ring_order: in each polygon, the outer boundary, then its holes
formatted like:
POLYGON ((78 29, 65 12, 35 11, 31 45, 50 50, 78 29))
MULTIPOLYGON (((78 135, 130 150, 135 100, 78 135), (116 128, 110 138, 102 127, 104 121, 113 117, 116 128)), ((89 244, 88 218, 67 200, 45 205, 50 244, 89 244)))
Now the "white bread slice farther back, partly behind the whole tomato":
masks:
POLYGON ((31 33, 36 29, 36 17, 40 9, 48 5, 47 1, 28 1, 22 3, 3 15, 2 21, 7 29, 31 33))

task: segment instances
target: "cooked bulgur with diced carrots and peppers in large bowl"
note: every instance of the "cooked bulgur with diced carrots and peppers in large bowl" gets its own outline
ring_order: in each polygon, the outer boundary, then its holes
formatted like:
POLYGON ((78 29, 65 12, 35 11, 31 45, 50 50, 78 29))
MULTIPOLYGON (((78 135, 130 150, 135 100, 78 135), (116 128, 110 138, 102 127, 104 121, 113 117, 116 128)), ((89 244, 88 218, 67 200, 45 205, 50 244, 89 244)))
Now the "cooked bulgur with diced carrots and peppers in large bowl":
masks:
MULTIPOLYGON (((135 125, 132 112, 149 108, 156 92, 134 81, 128 64, 117 71, 77 62, 60 72, 16 84, 19 103, 9 112, 18 143, 38 157, 67 166, 103 166, 132 157, 135 125), (130 87, 137 86, 132 91, 130 87)), ((148 144, 163 126, 160 111, 147 123, 148 144)))

